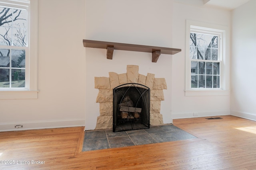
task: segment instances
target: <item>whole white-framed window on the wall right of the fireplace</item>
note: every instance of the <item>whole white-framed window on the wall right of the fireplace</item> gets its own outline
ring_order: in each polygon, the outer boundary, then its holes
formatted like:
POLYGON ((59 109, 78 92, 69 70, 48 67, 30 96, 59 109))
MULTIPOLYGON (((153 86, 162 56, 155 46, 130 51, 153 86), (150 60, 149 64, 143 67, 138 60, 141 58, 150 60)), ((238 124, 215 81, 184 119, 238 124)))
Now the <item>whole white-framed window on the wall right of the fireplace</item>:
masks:
POLYGON ((227 31, 225 26, 187 21, 186 96, 228 94, 227 31))

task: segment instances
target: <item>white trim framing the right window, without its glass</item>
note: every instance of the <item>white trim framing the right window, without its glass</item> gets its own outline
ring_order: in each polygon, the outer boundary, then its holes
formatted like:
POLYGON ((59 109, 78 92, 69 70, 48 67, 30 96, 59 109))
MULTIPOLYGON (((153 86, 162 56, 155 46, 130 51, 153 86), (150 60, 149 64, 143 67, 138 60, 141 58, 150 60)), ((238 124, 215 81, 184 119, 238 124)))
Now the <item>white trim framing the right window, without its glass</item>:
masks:
POLYGON ((230 35, 229 35, 229 27, 225 25, 217 25, 212 23, 205 23, 200 21, 192 21, 186 20, 186 67, 185 67, 185 96, 222 96, 229 95, 230 90, 230 61, 229 61, 229 45, 230 45, 230 35), (222 43, 220 45, 221 54, 221 66, 220 66, 220 78, 221 84, 220 88, 191 88, 191 60, 190 60, 190 32, 191 27, 193 30, 197 30, 198 33, 203 31, 207 33, 205 30, 209 30, 209 33, 221 33, 222 34, 222 43), (203 29, 201 29, 203 28, 203 29), (206 28, 206 29, 204 29, 206 28))

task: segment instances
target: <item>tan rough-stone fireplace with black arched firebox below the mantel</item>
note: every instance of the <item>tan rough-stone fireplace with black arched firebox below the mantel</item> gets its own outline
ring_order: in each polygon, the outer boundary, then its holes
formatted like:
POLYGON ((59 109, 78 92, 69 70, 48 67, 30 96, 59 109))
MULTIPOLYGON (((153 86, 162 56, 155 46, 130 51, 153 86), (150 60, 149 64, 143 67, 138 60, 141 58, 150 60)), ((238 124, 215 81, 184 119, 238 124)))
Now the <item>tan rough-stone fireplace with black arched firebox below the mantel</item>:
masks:
MULTIPOLYGON (((118 112, 120 111, 120 109, 118 108, 113 109, 116 108, 116 106, 113 107, 113 96, 118 95, 115 94, 117 90, 123 93, 123 91, 126 92, 127 89, 133 88, 135 88, 134 94, 138 95, 140 93, 142 94, 142 92, 144 92, 144 94, 141 96, 141 99, 139 100, 138 104, 137 100, 134 100, 132 95, 128 95, 128 97, 132 99, 133 107, 141 109, 140 113, 137 112, 138 110, 134 110, 134 112, 132 112, 130 108, 128 111, 126 111, 128 112, 128 115, 129 113, 130 115, 138 113, 140 116, 140 119, 127 119, 127 122, 131 124, 132 129, 136 128, 136 126, 139 125, 138 122, 140 121, 143 122, 140 123, 141 126, 143 124, 142 128, 149 128, 149 125, 163 124, 163 117, 162 114, 160 113, 160 108, 161 101, 164 100, 163 90, 167 89, 165 78, 155 78, 155 74, 152 73, 148 73, 147 75, 139 74, 139 66, 136 65, 127 65, 126 70, 127 72, 122 74, 118 74, 116 72, 109 72, 109 77, 94 77, 94 88, 99 90, 98 96, 96 98, 96 103, 99 103, 100 113, 100 115, 97 117, 95 130, 112 129, 113 123, 115 123, 115 121, 120 121, 119 119, 117 119, 117 117, 113 118, 113 115, 118 114, 118 112), (122 90, 122 88, 124 88, 125 90, 122 90), (115 92, 113 91, 114 89, 116 89, 115 92), (150 99, 147 102, 142 103, 141 100, 144 100, 146 98, 150 99), (144 114, 144 110, 147 111, 147 113, 144 114), (144 116, 146 116, 149 119, 145 119, 144 116)), ((122 102, 128 102, 126 96, 124 95, 121 95, 121 97, 115 96, 115 98, 116 99, 114 100, 117 100, 116 103, 118 106, 122 102)), ((126 107, 128 107, 128 105, 126 105, 126 107)), ((138 117, 137 114, 136 117, 138 117)), ((124 121, 125 120, 121 120, 121 123, 124 123, 124 121)), ((119 131, 119 127, 116 127, 116 125, 118 124, 114 125, 115 131, 119 131)))

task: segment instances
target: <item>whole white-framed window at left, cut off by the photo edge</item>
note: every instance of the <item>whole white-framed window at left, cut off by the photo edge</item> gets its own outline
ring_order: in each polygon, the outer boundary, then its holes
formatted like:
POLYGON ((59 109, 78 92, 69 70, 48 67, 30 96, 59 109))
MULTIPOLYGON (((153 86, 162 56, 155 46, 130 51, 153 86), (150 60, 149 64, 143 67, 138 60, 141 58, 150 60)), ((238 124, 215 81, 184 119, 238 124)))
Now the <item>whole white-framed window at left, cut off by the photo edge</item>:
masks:
POLYGON ((0 99, 37 98, 38 0, 0 1, 0 99))

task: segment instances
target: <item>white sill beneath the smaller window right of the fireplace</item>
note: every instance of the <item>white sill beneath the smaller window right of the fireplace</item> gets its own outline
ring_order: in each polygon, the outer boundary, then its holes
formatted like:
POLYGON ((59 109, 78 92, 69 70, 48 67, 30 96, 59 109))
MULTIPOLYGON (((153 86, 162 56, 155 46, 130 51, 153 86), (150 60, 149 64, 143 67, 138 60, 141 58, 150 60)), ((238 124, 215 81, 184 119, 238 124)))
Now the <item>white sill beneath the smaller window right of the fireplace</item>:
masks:
POLYGON ((186 90, 185 96, 228 96, 230 90, 186 90))

